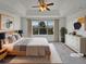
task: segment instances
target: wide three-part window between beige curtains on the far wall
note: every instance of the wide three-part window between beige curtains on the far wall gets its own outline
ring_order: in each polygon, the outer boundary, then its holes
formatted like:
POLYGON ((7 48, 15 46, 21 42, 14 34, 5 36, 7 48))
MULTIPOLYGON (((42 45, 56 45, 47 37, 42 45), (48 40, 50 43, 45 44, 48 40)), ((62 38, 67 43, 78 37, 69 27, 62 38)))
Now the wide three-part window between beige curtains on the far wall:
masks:
POLYGON ((33 35, 53 35, 52 21, 33 21, 33 35))

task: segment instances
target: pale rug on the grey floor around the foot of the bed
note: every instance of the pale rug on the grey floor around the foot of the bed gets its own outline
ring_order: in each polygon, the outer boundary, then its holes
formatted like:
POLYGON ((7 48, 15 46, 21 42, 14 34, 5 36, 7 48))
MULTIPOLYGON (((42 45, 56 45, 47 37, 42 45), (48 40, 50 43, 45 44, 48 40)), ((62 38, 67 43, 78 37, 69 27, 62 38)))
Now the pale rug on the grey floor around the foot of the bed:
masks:
POLYGON ((28 56, 15 56, 10 63, 62 63, 60 55, 58 54, 54 46, 49 44, 51 49, 51 60, 48 61, 44 57, 28 57, 28 56))

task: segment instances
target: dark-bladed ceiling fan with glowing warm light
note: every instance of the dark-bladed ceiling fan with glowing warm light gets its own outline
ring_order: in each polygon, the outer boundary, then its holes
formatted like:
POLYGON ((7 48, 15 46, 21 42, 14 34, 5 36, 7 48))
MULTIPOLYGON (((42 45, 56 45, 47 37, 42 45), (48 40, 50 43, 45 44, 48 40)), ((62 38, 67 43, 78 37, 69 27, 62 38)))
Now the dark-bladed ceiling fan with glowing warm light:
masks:
POLYGON ((34 5, 33 8, 39 8, 40 12, 50 11, 49 7, 53 5, 53 3, 46 3, 45 0, 38 0, 38 5, 34 5))

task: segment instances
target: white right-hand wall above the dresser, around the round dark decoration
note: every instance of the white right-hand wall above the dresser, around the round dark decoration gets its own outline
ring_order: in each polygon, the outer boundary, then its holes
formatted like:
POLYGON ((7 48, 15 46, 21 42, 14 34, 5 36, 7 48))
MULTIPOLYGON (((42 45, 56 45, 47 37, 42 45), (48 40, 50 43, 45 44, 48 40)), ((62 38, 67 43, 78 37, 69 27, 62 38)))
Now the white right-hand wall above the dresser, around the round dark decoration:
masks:
MULTIPOLYGON (((86 16, 86 10, 78 11, 66 17, 66 28, 69 33, 74 31, 73 23, 77 22, 77 17, 82 17, 82 16, 86 16)), ((77 34, 86 37, 84 25, 82 25, 82 28, 79 30, 77 30, 77 34)))

